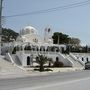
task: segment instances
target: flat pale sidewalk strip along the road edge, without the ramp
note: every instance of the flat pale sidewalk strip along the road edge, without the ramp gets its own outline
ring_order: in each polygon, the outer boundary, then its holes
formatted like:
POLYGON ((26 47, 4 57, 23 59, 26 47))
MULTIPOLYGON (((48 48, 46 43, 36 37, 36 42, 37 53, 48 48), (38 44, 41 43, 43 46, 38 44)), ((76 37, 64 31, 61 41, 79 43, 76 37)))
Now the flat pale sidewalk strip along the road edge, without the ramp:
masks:
POLYGON ((53 73, 60 73, 60 72, 73 72, 83 70, 82 68, 53 68, 53 71, 45 71, 39 72, 34 71, 33 68, 25 71, 24 73, 7 73, 7 72, 0 72, 0 79, 11 79, 11 78, 22 78, 22 77, 30 77, 30 76, 42 76, 42 75, 50 75, 53 73))

